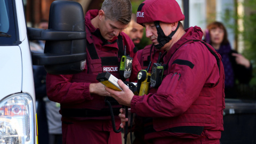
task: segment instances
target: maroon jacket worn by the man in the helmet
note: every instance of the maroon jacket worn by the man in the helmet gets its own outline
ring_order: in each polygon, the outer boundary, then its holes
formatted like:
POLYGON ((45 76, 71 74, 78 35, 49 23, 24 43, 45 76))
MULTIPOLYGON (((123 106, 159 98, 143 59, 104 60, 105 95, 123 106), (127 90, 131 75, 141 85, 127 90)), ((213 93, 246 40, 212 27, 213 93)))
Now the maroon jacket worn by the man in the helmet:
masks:
MULTIPOLYGON (((207 44, 208 50, 201 42, 189 41, 200 41, 202 36, 199 27, 186 29, 186 34, 163 58, 166 70, 157 92, 149 91, 148 95, 134 95, 132 98, 131 112, 141 117, 153 117, 154 131, 162 132, 162 136, 220 139, 225 108, 225 75, 221 57, 212 46, 207 44), (210 51, 219 59, 220 68, 210 51), (163 132, 179 126, 202 126, 204 135, 163 132)), ((157 133, 146 134, 145 139, 162 137, 157 133)))

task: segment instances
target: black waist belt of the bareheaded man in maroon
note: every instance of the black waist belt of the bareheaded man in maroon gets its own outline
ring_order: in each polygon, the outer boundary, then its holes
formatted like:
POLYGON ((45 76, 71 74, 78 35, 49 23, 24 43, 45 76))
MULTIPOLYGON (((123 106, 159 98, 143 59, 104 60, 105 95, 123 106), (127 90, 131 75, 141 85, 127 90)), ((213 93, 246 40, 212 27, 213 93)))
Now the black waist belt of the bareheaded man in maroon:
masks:
MULTIPOLYGON (((120 108, 113 108, 113 113, 115 116, 119 115, 120 108)), ((78 109, 78 108, 61 108, 61 115, 63 117, 100 117, 100 116, 110 116, 109 109, 78 109)))

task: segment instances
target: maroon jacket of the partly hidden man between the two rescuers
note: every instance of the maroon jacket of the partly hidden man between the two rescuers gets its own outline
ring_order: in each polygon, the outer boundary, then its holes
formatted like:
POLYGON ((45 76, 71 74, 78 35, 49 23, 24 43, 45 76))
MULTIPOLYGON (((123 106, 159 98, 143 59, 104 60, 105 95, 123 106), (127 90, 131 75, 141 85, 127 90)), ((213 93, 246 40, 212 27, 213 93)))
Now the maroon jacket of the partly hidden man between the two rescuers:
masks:
POLYGON ((140 62, 141 68, 147 69, 149 62, 151 61, 151 65, 149 67, 149 73, 150 73, 153 63, 157 62, 159 52, 162 52, 163 54, 163 51, 157 50, 156 47, 153 45, 147 45, 144 47, 144 49, 139 50, 137 52, 137 57, 140 62))

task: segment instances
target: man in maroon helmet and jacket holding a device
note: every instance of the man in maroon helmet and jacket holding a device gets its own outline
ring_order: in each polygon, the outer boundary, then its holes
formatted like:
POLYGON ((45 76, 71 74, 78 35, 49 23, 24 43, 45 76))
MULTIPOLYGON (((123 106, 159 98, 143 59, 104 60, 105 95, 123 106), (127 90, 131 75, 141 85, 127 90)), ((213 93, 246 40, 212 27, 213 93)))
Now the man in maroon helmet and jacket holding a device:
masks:
MULTIPOLYGON (((164 67, 163 78, 155 79, 160 85, 154 86, 150 79, 154 87, 142 97, 120 80, 122 92, 105 87, 120 104, 130 106, 131 113, 144 117, 145 143, 220 143, 225 109, 221 57, 201 40, 201 28, 183 28, 180 21, 184 19, 174 0, 143 2, 137 22, 146 28, 154 46, 165 51, 159 62, 164 67)), ((154 76, 161 77, 161 73, 154 76)), ((124 127, 128 118, 124 109, 120 111, 124 127)))

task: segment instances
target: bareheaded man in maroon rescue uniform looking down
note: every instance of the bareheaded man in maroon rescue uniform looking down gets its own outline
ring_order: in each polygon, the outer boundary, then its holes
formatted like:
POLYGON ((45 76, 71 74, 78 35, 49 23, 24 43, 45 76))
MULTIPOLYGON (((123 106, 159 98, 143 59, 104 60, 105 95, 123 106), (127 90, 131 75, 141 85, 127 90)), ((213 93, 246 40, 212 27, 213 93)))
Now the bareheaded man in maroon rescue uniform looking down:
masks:
MULTIPOLYGON (((137 81, 141 67, 134 44, 122 32, 131 14, 129 0, 105 0, 101 10, 88 11, 84 71, 74 75, 47 74, 47 95, 61 106, 63 143, 122 143, 121 133, 113 131, 106 97, 102 97, 110 94, 96 77, 108 71, 120 79, 119 66, 126 47, 126 55, 133 58, 132 73, 126 81, 137 81)), ((120 108, 121 105, 113 104, 117 129, 121 123, 117 116, 120 108)))

